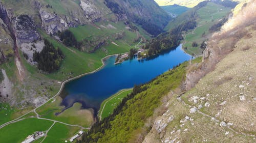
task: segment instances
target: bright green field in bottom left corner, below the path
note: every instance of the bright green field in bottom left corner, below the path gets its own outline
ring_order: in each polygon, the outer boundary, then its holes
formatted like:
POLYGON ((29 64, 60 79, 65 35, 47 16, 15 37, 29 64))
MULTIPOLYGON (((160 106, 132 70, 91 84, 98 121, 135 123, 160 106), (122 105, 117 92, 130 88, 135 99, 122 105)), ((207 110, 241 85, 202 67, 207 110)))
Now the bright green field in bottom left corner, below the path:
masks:
POLYGON ((35 118, 25 119, 0 129, 0 142, 22 142, 35 131, 46 131, 53 124, 51 121, 35 118))

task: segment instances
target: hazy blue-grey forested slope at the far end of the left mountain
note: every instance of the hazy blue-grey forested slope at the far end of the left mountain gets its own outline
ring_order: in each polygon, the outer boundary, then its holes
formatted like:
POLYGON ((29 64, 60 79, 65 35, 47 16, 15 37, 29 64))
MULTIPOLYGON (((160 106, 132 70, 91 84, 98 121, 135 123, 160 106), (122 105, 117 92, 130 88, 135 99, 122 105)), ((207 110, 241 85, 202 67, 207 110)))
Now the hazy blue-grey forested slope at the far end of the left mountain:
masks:
POLYGON ((106 1, 108 6, 120 19, 131 20, 142 25, 148 33, 158 35, 170 20, 153 0, 150 1, 106 1))

